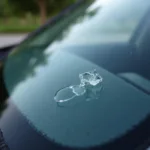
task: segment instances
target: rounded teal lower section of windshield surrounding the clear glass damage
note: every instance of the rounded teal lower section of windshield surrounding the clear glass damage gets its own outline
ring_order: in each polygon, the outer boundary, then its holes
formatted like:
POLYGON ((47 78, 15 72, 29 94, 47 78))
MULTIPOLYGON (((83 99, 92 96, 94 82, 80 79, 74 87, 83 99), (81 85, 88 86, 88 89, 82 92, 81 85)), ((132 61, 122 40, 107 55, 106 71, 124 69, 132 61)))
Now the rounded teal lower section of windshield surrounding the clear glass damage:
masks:
MULTIPOLYGON (((17 55, 27 56, 30 52, 17 55)), ((26 70, 20 74, 18 68, 19 72, 10 78, 8 71, 15 69, 12 66, 16 59, 9 58, 4 72, 11 98, 38 131, 58 144, 82 148, 102 145, 123 136, 150 113, 148 95, 78 56, 54 52, 45 65, 35 67, 33 75, 24 73, 26 70), (81 95, 56 103, 54 96, 58 90, 80 84, 79 74, 93 69, 103 77, 103 89, 95 97, 89 100, 81 95), (24 80, 16 82, 19 78, 24 80)), ((19 65, 25 61, 22 59, 19 65)))

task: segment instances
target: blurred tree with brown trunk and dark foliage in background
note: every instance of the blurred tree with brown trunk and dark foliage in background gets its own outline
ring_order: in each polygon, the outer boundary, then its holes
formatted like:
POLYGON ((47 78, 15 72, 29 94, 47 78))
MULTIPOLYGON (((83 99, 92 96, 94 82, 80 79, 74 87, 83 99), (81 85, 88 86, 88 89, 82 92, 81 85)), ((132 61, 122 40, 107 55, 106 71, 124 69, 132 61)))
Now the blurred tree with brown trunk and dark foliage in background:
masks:
POLYGON ((6 0, 13 13, 24 15, 27 12, 40 15, 41 23, 45 23, 49 13, 54 14, 76 0, 6 0))

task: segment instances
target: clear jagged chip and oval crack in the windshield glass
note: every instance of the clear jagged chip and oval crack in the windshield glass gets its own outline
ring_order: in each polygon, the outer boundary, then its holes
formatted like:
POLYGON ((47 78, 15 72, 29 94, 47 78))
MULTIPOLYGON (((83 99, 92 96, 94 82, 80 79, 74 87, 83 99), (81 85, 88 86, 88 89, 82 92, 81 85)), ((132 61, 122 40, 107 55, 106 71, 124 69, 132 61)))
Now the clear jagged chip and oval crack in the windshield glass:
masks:
POLYGON ((54 97, 58 103, 73 100, 75 97, 85 96, 86 100, 97 99, 102 89, 103 78, 96 69, 79 74, 80 84, 60 89, 54 97))

